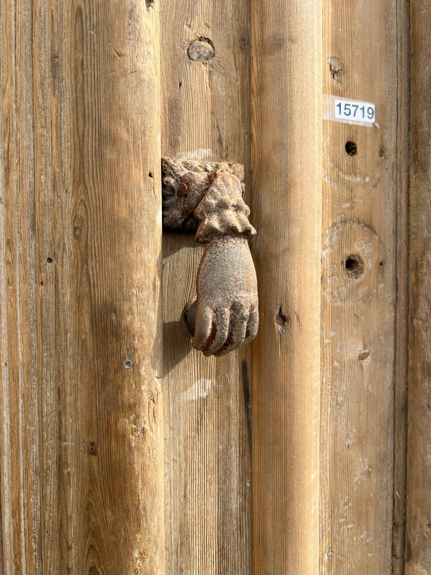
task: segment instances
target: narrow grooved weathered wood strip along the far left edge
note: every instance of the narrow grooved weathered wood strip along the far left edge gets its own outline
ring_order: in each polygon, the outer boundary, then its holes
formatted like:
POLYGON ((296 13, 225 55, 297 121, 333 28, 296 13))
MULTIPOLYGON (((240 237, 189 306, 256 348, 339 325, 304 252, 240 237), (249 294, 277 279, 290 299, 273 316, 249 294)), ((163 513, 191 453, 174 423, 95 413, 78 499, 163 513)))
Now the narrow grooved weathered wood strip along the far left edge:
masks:
POLYGON ((33 3, 1 8, 1 488, 5 573, 42 573, 33 3))

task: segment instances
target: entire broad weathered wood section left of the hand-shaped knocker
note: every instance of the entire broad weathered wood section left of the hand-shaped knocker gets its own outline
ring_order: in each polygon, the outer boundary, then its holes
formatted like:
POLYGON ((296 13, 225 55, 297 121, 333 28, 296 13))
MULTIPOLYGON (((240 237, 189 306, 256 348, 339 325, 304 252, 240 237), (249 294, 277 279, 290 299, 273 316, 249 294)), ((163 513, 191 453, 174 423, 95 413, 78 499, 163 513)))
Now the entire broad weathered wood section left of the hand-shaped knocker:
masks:
POLYGON ((0 14, 5 573, 163 573, 157 8, 0 14))

